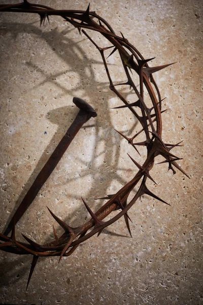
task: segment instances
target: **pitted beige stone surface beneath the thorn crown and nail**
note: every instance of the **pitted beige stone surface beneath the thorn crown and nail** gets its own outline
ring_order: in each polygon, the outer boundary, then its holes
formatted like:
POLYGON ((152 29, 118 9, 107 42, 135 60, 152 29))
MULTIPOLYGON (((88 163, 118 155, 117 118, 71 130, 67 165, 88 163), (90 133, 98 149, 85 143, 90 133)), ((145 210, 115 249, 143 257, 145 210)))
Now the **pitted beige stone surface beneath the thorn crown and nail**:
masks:
MULTIPOLYGON (((85 10, 88 1, 41 0, 58 9, 85 10)), ((18 1, 1 1, 18 3, 18 1)), ((155 165, 158 186, 149 188, 171 206, 143 196, 124 220, 84 242, 70 258, 40 259, 25 291, 31 257, 0 253, 0 302, 4 304, 203 304, 202 296, 202 2, 129 0, 91 2, 135 45, 150 65, 177 62, 155 75, 163 102, 163 139, 190 175, 155 165)), ((1 13, 1 231, 78 110, 73 97, 98 116, 79 132, 36 200, 16 226, 39 243, 53 239, 56 222, 46 206, 72 226, 89 219, 81 195, 96 210, 95 197, 115 193, 137 171, 127 157, 145 160, 115 132, 138 131, 128 110, 110 91, 95 47, 59 17, 40 27, 37 15, 1 13)), ((97 34, 98 43, 108 46, 97 34), (99 38, 98 38, 99 37, 99 38)), ((115 52, 114 81, 125 81, 115 52)), ((139 82, 138 82, 139 84, 139 82)), ((130 99, 130 98, 129 98, 130 99)), ((159 160, 157 158, 157 160, 159 160)), ((161 159, 160 159, 161 161, 161 159)), ((115 212, 114 212, 115 213, 115 212)), ((115 215, 115 214, 114 214, 115 215)))

